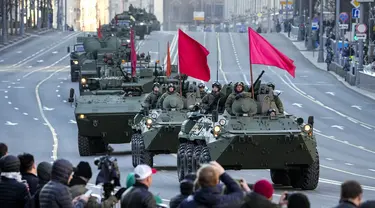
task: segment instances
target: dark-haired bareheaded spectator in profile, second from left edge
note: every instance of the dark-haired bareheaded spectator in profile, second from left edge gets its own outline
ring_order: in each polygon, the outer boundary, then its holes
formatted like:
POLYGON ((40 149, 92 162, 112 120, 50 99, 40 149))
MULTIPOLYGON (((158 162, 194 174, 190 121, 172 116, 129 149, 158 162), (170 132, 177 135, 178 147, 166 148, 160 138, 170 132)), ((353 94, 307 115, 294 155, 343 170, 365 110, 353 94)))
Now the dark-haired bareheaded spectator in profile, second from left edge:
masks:
POLYGON ((33 196, 36 192, 36 187, 38 186, 39 179, 36 176, 36 165, 34 161, 34 156, 29 153, 24 153, 22 155, 18 155, 18 159, 21 162, 21 175, 22 180, 27 181, 27 185, 29 186, 29 191, 31 196, 33 196))

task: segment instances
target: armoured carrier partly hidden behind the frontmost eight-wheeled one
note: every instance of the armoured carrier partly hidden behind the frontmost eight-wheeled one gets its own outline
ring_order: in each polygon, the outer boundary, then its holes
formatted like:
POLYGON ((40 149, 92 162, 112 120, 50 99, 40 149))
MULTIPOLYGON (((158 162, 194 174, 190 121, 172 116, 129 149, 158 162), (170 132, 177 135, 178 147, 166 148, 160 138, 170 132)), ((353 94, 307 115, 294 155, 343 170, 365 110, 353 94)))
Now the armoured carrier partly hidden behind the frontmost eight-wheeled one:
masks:
MULTIPOLYGON (((161 79, 162 92, 166 92, 168 83, 179 85, 178 79, 161 79)), ((177 152, 178 133, 181 124, 187 119, 189 106, 201 101, 196 83, 185 82, 182 84, 182 96, 172 94, 165 98, 162 109, 147 107, 134 117, 132 141, 133 166, 147 164, 153 166, 153 157, 157 154, 171 154, 177 152)), ((176 89, 178 90, 178 89, 176 89)))

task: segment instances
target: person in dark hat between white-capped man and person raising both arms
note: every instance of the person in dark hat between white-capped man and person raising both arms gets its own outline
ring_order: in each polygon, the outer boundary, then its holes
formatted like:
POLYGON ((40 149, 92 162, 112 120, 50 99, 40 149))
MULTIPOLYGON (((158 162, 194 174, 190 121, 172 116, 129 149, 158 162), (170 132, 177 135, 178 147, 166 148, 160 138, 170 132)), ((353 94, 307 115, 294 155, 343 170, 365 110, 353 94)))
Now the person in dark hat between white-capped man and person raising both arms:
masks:
POLYGON ((173 197, 169 202, 170 208, 177 208, 182 201, 184 201, 189 195, 193 194, 195 174, 188 174, 184 180, 180 182, 180 194, 173 197))

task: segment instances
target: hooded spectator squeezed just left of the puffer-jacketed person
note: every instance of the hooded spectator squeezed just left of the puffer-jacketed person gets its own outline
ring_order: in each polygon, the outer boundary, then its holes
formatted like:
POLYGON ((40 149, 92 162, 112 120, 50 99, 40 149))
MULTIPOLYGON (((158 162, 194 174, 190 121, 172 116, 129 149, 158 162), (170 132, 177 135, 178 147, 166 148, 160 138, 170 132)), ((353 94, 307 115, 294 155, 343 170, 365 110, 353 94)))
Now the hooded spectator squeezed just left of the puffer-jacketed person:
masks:
POLYGON ((33 204, 34 208, 39 208, 39 194, 44 185, 51 180, 51 172, 52 172, 52 165, 48 162, 41 162, 39 163, 38 167, 36 168, 36 172, 39 178, 38 186, 36 187, 36 192, 33 196, 33 204))

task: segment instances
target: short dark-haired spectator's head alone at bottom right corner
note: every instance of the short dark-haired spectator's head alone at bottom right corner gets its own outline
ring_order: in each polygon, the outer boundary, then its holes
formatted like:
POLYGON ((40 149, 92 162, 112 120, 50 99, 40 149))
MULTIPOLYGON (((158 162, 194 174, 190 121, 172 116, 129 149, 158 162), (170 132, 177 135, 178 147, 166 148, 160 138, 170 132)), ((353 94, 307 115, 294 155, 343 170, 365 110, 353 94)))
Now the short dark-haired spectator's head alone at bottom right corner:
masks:
POLYGON ((359 207, 363 190, 357 181, 346 181, 341 184, 340 204, 336 208, 359 207))

